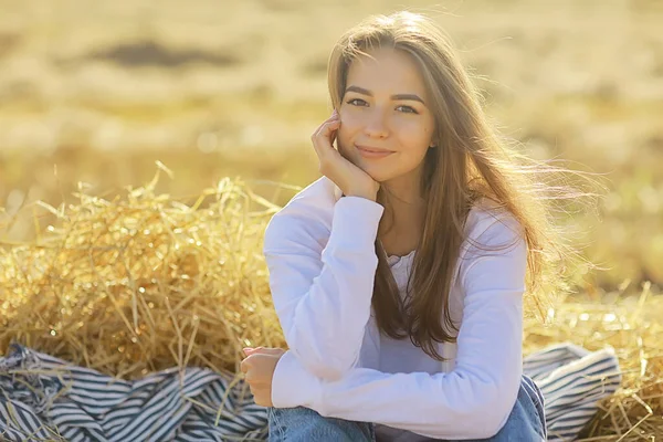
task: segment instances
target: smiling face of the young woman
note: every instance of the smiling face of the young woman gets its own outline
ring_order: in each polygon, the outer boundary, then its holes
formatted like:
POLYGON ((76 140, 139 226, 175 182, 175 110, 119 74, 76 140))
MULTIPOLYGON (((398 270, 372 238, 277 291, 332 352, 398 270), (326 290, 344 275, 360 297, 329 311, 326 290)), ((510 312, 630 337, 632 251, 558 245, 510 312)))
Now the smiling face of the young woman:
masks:
POLYGON ((338 109, 339 150, 378 182, 409 175, 417 179, 434 135, 423 78, 402 51, 369 54, 375 60, 358 57, 348 71, 338 109))

